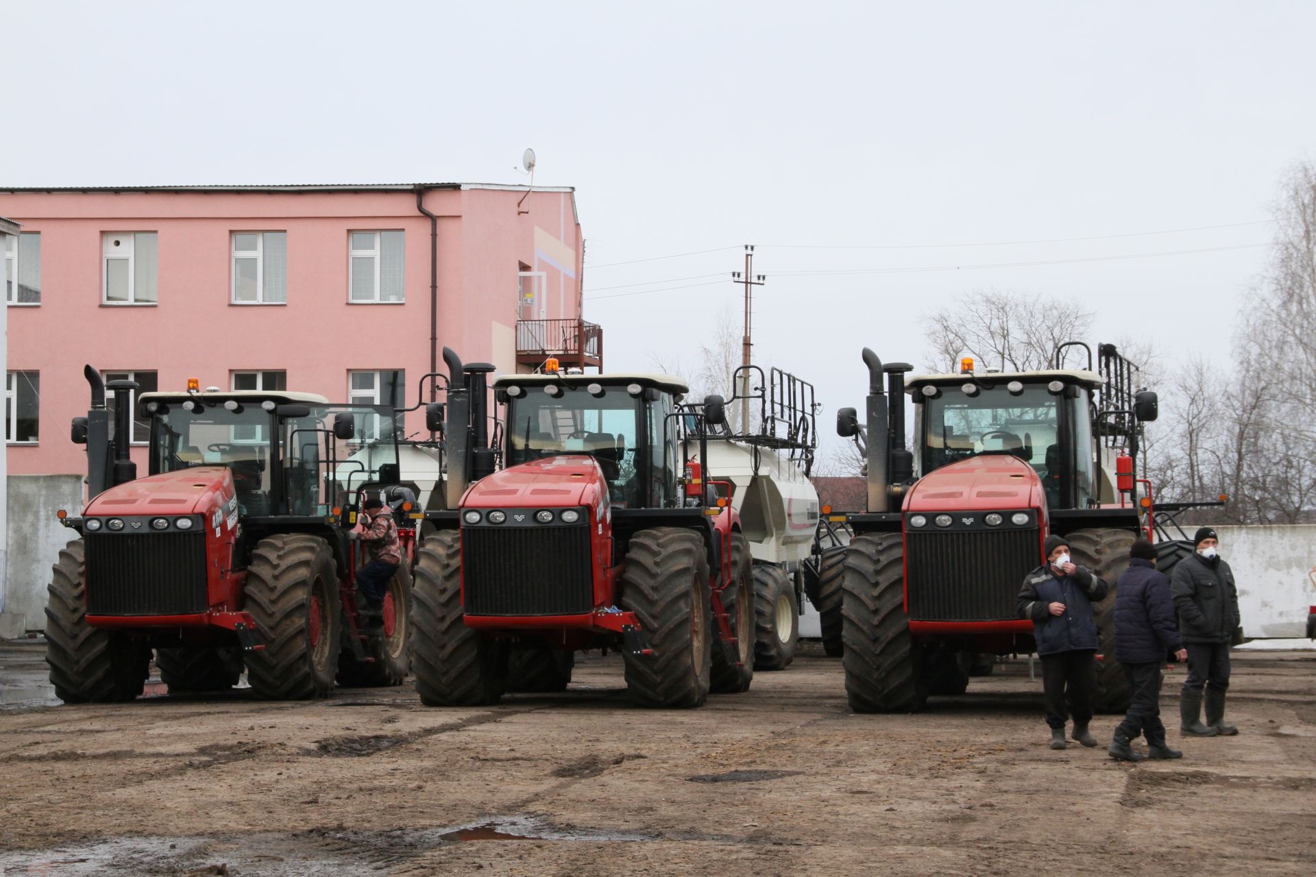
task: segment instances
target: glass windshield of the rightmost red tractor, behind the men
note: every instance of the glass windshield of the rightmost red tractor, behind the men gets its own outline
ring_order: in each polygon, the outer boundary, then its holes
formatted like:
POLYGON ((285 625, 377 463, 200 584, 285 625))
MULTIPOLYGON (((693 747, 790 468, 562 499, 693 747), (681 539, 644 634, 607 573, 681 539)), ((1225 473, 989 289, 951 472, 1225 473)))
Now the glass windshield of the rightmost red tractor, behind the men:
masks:
POLYGON ((1008 454, 1049 484, 1048 475, 1058 476, 1063 464, 1058 400, 1041 384, 1025 384, 1017 396, 1005 387, 979 389, 975 396, 959 387, 941 388, 923 404, 923 472, 979 454, 1008 454))

